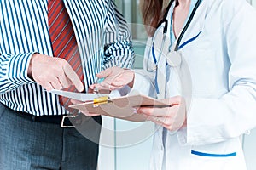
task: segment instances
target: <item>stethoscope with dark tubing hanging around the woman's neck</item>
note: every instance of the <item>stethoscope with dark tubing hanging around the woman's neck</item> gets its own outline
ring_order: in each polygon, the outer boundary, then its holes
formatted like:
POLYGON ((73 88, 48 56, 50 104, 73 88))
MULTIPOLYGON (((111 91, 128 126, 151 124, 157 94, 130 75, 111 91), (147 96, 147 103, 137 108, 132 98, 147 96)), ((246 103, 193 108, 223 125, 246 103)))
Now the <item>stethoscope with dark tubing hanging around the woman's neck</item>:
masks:
MULTIPOLYGON (((162 56, 163 54, 163 48, 164 48, 164 44, 166 42, 166 32, 167 32, 167 28, 168 28, 168 20, 167 20, 167 14, 172 6, 172 3, 174 2, 174 0, 172 0, 168 7, 166 8, 166 13, 164 14, 164 17, 163 19, 160 21, 160 23, 158 24, 157 26, 157 29, 156 31, 154 31, 154 36, 152 37, 152 42, 151 42, 151 54, 152 54, 152 57, 153 57, 153 60, 154 60, 154 66, 152 67, 152 69, 149 68, 149 57, 150 57, 150 51, 148 52, 148 59, 147 59, 147 65, 146 65, 146 70, 148 72, 154 72, 158 69, 158 61, 160 60, 160 57, 162 56), (159 35, 159 32, 160 32, 160 29, 163 29, 163 33, 162 33, 162 40, 161 40, 161 45, 160 45, 160 53, 158 55, 158 58, 156 58, 156 55, 155 55, 155 50, 154 50, 154 43, 155 43, 155 39, 156 37, 159 35)), ((183 35, 185 34, 185 32, 188 30, 188 27, 191 23, 191 21, 193 20, 194 18, 194 15, 195 15, 195 11, 197 10, 197 8, 200 6, 200 3, 201 3, 201 0, 198 0, 196 3, 195 3, 195 7, 193 8, 192 10, 192 13, 190 14, 189 16, 189 20, 187 21, 186 25, 183 27, 183 31, 181 31, 179 37, 177 38, 177 41, 175 42, 174 44, 174 48, 173 48, 173 52, 177 52, 179 50, 179 45, 180 45, 180 42, 183 38, 183 35)), ((171 46, 169 47, 169 51, 172 51, 172 48, 171 46)), ((172 65, 171 66, 175 66, 175 65, 178 65, 177 63, 178 62, 181 62, 180 59, 178 58, 175 58, 177 59, 176 64, 173 64, 172 62, 172 65)), ((168 62, 169 63, 169 62, 168 62)))

